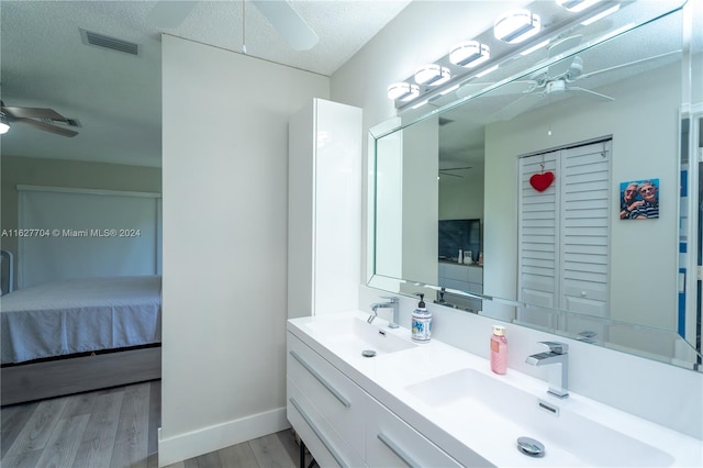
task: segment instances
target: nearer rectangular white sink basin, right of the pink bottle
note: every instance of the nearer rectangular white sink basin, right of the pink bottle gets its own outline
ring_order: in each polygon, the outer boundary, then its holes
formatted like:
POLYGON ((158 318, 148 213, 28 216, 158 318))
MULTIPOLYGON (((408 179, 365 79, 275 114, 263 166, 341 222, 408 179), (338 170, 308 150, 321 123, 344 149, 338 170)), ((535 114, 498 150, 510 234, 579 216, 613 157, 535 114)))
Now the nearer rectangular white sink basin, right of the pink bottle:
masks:
MULTIPOLYGON (((500 426, 505 449, 515 449, 521 436, 545 445, 546 465, 553 454, 569 454, 590 466, 654 467, 669 466, 674 458, 655 446, 615 431, 568 409, 568 401, 556 402, 501 381, 475 369, 451 374, 409 386, 406 390, 426 404, 473 421, 493 421, 500 426), (544 406, 557 408, 558 414, 544 406), (498 423, 498 419, 502 420, 498 423), (507 448, 510 447, 510 448, 507 448)), ((498 437, 498 435, 496 435, 498 437)), ((496 441, 498 442, 498 441, 496 441)), ((556 455, 555 455, 556 456, 556 455)), ((527 457, 525 455, 525 457, 527 457)))

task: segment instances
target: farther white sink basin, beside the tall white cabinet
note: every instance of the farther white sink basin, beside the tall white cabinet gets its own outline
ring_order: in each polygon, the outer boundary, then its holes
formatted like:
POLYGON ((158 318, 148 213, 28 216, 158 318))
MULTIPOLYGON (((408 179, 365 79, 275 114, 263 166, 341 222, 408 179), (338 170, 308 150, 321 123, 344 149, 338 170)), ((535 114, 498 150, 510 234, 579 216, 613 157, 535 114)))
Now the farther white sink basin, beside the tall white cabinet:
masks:
POLYGON ((417 346, 410 339, 395 336, 386 326, 369 324, 358 317, 323 319, 304 326, 320 343, 342 356, 362 357, 365 350, 382 356, 417 346))

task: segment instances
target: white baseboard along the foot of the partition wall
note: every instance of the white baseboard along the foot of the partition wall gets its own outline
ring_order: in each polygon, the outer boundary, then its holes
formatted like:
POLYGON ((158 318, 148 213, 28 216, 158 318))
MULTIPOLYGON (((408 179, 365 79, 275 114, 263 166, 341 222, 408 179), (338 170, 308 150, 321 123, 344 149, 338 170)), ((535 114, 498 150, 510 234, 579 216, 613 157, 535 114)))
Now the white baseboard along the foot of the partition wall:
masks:
POLYGON ((290 427, 286 406, 164 438, 158 430, 158 466, 164 467, 290 427))

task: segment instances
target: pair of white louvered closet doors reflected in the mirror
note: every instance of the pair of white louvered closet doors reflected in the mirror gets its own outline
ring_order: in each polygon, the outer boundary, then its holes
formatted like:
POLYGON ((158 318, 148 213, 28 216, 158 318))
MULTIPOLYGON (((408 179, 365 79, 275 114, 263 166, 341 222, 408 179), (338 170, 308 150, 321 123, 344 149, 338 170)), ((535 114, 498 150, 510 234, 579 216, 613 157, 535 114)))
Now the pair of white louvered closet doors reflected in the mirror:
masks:
POLYGON ((600 142, 520 159, 518 298, 532 307, 518 310, 518 321, 602 335, 582 315, 538 307, 609 315, 610 147, 600 142), (539 192, 529 179, 546 170, 555 182, 539 192))

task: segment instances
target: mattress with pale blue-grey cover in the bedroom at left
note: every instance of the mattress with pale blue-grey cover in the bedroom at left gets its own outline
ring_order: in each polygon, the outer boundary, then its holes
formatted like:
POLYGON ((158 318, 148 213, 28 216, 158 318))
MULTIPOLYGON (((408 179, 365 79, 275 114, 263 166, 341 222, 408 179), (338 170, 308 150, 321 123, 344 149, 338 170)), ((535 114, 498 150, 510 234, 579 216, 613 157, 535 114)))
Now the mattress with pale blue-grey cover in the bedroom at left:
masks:
POLYGON ((161 341, 161 278, 70 279, 0 297, 1 363, 161 341))

